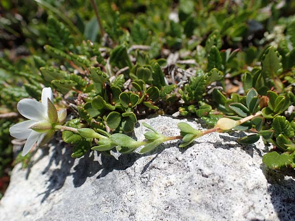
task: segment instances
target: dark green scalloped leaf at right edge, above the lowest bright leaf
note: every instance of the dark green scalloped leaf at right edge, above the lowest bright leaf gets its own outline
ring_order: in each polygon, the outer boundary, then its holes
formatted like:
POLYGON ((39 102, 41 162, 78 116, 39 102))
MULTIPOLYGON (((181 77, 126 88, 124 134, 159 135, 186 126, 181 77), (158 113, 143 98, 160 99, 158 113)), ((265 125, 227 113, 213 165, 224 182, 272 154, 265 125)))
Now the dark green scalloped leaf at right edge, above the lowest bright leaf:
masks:
POLYGON ((284 134, 288 138, 294 136, 294 130, 285 116, 274 117, 271 126, 274 129, 275 137, 278 137, 280 134, 284 134))

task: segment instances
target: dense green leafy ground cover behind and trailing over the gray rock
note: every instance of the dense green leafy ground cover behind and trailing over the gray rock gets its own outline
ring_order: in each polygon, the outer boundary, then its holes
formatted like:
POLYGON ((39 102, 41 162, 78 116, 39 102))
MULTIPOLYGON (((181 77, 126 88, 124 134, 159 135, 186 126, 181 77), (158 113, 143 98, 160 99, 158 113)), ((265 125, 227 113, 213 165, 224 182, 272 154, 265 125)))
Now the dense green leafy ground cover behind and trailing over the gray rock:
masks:
POLYGON ((67 109, 65 125, 52 128, 63 130, 75 158, 90 149, 150 151, 173 138, 145 125, 146 141, 132 140, 137 120, 179 111, 208 128, 178 125, 179 148, 206 133, 245 130, 253 134, 238 142, 272 144, 266 166, 295 167, 295 2, 0 4, 0 188, 12 162, 8 129, 23 120, 17 103, 41 100, 44 87, 54 88, 57 110, 67 109))

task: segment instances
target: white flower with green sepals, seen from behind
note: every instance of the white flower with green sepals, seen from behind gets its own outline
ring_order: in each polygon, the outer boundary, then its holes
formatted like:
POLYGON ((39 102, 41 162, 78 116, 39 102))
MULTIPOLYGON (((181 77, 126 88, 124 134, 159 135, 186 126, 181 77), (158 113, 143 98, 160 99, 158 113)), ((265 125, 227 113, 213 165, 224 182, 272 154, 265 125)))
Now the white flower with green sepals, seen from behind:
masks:
POLYGON ((27 139, 22 156, 29 153, 35 143, 37 146, 42 146, 53 138, 54 126, 64 123, 66 118, 66 110, 57 111, 53 105, 53 93, 50 87, 43 88, 41 102, 23 99, 17 104, 17 110, 29 119, 9 129, 12 137, 27 139))

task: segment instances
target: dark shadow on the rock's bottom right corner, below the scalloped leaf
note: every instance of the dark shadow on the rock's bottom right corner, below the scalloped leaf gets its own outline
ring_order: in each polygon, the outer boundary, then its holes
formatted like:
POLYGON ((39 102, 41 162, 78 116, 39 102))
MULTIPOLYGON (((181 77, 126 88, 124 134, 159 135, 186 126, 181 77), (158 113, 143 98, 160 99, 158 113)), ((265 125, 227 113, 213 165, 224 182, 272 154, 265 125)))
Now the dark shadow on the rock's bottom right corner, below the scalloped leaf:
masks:
MULTIPOLYGON (((280 221, 295 221, 295 180, 264 165, 261 169, 268 182, 267 191, 271 203, 280 221)), ((295 177, 295 171, 288 171, 287 175, 295 177)))

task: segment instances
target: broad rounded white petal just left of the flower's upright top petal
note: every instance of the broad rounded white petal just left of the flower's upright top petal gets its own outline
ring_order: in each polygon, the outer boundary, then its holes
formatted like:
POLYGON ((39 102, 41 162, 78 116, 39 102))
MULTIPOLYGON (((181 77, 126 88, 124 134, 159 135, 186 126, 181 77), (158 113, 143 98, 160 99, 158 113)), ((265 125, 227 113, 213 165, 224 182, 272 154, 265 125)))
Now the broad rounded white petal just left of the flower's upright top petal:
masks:
POLYGON ((47 119, 46 107, 38 101, 32 99, 23 99, 17 104, 17 110, 24 117, 30 120, 47 119))

